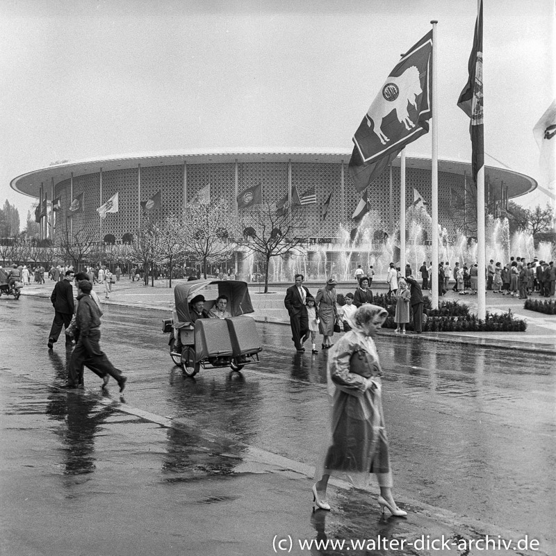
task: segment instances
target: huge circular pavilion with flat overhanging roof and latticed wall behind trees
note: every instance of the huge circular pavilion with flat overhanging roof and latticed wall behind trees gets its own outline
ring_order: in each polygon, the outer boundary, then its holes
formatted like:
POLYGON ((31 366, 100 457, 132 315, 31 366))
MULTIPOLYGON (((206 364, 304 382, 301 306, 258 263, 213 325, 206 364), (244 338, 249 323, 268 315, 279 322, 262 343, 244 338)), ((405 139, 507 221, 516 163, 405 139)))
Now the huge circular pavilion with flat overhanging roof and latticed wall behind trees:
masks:
MULTIPOLYGON (((338 225, 353 229, 352 220, 361 199, 348 169, 350 153, 335 149, 306 152, 172 151, 128 154, 67 162, 32 170, 15 177, 10 186, 24 195, 48 200, 43 211, 43 237, 56 240, 67 225, 86 231, 99 241, 113 236, 126 241, 140 226, 145 204, 151 216, 163 218, 180 211, 199 194, 210 189, 211 199, 229 200, 238 211, 236 197, 261 183, 263 200, 278 202, 295 187, 300 197, 315 196, 307 208, 308 238, 333 240, 338 225), (101 219, 97 208, 118 194, 117 213, 101 219), (322 205, 332 193, 325 218, 322 205), (54 211, 51 210, 54 201, 54 211), (72 208, 73 210, 70 210, 72 208), (68 224, 69 223, 69 224, 68 224)), ((439 223, 455 234, 465 218, 471 190, 471 164, 439 161, 439 223)), ((508 199, 529 193, 537 182, 502 167, 485 166, 487 204, 504 208, 508 199)), ((431 200, 431 161, 407 157, 406 206, 431 200)), ((400 206, 400 160, 382 173, 368 189, 367 208, 377 229, 392 235, 398 229, 400 206)))

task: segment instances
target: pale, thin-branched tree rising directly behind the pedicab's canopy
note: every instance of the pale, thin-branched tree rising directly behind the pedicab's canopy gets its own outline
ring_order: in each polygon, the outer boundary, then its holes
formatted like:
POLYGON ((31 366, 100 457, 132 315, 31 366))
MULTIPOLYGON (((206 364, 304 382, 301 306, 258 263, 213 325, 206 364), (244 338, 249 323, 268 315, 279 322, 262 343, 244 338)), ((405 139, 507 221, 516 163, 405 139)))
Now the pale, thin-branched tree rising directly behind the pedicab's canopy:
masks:
POLYGON ((236 251, 233 238, 239 235, 238 222, 224 199, 195 202, 186 208, 183 222, 183 246, 190 255, 203 261, 206 278, 207 263, 229 259, 236 251))

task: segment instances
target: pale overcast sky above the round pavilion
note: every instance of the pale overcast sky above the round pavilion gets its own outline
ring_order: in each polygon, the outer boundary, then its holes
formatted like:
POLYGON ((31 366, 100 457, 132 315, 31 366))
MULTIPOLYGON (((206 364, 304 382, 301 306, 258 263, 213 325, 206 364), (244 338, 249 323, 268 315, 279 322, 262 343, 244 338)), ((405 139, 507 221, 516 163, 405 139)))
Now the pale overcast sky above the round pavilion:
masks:
MULTIPOLYGON (((438 20, 439 158, 471 161, 457 99, 476 0, 2 0, 0 203, 60 160, 178 149, 352 150, 382 83, 438 20)), ((486 164, 541 183, 555 0, 484 0, 486 164), (524 11, 525 8, 525 11, 524 11), (501 163, 501 164, 500 164, 501 163)), ((430 156, 431 133, 407 147, 430 156)), ((537 190, 518 202, 546 205, 537 190)))

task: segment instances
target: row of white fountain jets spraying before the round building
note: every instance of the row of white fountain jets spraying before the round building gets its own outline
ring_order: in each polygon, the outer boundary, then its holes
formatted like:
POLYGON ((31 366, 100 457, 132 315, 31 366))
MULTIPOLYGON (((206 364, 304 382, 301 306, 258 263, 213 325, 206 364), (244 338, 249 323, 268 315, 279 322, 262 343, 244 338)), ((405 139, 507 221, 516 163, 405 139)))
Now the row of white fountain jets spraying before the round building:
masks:
MULTIPOLYGON (((357 265, 368 270, 373 265, 375 279, 385 279, 389 263, 400 265, 400 230, 393 236, 384 234, 386 225, 377 211, 367 213, 357 229, 350 231, 342 224, 338 225, 336 239, 331 243, 313 243, 303 245, 297 252, 292 252, 283 259, 273 257, 269 265, 270 282, 291 282, 298 272, 311 281, 325 281, 334 276, 338 281, 352 281, 357 265)), ((411 265, 414 274, 423 264, 432 259, 432 218, 423 206, 410 206, 406 212, 406 262, 411 265)), ((507 219, 486 218, 486 261, 509 261, 510 256, 523 256, 532 261, 551 261, 555 258, 555 245, 541 242, 534 249, 532 235, 519 231, 510 236, 507 219)), ((243 274, 251 280, 254 270, 254 256, 244 258, 243 274)), ((477 242, 458 234, 450 238, 445 228, 439 227, 439 262, 449 261, 453 268, 471 265, 477 261, 477 242)), ((259 269, 262 272, 262 267, 259 269)))

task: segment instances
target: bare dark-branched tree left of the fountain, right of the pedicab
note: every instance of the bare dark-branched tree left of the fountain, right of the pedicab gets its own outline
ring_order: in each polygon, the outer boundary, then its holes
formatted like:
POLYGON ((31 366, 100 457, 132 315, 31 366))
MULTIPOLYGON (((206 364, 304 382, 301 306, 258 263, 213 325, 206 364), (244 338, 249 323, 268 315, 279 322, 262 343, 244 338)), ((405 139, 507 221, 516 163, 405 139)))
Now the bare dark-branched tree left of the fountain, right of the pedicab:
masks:
POLYGON ((241 223, 246 247, 263 259, 267 293, 270 259, 297 252, 306 238, 306 210, 294 205, 277 211, 274 203, 263 202, 245 211, 241 223))

